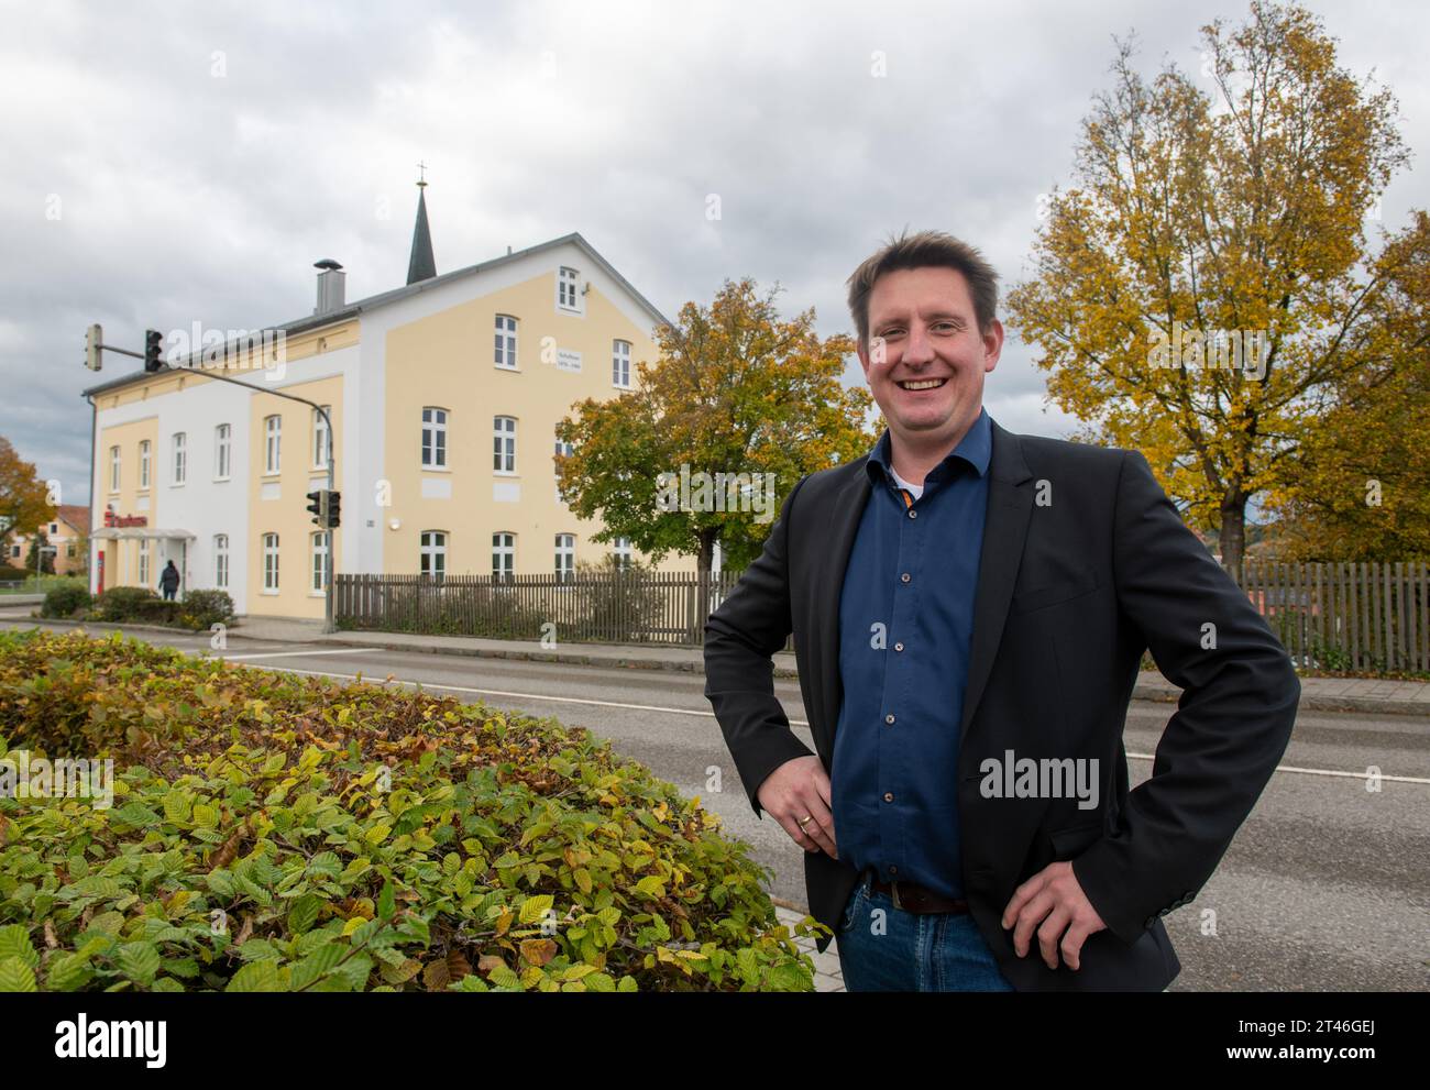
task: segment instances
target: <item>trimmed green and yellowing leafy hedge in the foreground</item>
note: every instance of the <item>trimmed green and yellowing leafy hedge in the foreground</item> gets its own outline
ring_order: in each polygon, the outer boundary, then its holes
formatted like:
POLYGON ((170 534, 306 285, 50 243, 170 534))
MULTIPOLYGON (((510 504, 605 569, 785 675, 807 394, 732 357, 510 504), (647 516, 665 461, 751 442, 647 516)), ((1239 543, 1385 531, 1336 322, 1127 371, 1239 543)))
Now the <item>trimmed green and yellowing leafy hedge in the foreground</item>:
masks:
POLYGON ((31 631, 0 724, 116 767, 0 798, 0 990, 812 987, 749 847, 555 720, 31 631))

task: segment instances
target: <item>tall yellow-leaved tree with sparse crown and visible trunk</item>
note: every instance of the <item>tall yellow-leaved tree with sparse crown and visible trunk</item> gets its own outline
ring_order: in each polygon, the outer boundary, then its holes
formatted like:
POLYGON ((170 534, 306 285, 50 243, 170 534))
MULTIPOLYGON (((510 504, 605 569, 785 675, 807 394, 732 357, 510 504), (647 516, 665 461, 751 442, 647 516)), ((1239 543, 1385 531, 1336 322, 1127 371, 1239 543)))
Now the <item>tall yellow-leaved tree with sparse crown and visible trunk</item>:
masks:
POLYGON ((1304 9, 1201 33, 1214 96, 1171 64, 1148 86, 1118 43, 1008 308, 1078 438, 1141 449, 1240 575, 1248 504, 1399 353, 1366 217, 1406 152, 1304 9))

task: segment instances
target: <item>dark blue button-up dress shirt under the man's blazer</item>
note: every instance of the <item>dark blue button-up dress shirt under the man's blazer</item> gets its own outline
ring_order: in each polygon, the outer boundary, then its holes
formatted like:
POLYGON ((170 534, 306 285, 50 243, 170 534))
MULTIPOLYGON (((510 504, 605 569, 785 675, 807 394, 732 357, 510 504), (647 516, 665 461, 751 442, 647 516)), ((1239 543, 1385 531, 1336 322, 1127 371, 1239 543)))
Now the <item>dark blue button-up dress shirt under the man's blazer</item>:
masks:
POLYGON ((960 898, 958 727, 991 456, 984 411, 914 499, 894 481, 885 431, 839 595, 839 858, 960 898))

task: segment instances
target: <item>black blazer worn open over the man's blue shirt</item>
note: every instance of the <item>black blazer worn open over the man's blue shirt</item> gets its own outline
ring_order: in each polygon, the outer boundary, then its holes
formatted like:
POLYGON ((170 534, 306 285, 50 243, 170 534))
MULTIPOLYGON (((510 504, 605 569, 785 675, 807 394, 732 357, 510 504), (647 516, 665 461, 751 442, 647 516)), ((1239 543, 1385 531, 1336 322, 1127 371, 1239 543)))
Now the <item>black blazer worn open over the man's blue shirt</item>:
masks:
MULTIPOLYGON (((764 552, 705 625, 705 695, 756 814, 765 777, 809 752, 774 697, 771 657, 791 631, 815 751, 832 771, 839 592, 867 461, 795 485, 764 552)), ((1195 897, 1251 811, 1290 741, 1300 682, 1135 451, 994 423, 988 475, 958 758, 964 895, 1020 991, 1160 991, 1181 970, 1160 917, 1195 897), (1148 648, 1185 691, 1151 780, 1128 792, 1123 727, 1148 648), (984 797, 982 762, 1010 750, 1095 758, 1097 808, 984 797), (1050 970, 1037 936, 1020 958, 1002 928, 1014 890, 1054 860, 1074 861, 1107 923, 1077 971, 1050 970)), ((848 863, 805 853, 811 914, 835 928, 857 878, 848 863)))

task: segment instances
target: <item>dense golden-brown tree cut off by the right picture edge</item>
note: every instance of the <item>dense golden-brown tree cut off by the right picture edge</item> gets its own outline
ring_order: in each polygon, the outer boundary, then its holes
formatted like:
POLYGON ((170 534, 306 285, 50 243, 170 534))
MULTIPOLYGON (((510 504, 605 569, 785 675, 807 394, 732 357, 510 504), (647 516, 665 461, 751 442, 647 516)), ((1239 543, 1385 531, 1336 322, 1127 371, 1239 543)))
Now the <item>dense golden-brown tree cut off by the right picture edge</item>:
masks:
POLYGON ((1268 502, 1291 559, 1430 559, 1430 216, 1386 247, 1377 275, 1391 350, 1311 422, 1268 502))

